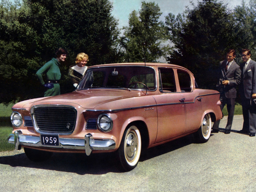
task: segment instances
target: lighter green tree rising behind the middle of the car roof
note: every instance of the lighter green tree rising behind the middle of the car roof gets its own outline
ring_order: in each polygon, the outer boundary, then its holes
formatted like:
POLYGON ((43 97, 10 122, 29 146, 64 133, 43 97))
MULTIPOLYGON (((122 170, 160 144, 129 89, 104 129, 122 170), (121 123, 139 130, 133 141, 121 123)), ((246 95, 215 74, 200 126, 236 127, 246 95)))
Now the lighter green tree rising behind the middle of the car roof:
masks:
POLYGON ((168 46, 164 23, 159 21, 160 7, 155 3, 142 2, 141 10, 133 11, 129 17, 129 27, 124 27, 120 38, 126 62, 156 62, 163 56, 168 46))

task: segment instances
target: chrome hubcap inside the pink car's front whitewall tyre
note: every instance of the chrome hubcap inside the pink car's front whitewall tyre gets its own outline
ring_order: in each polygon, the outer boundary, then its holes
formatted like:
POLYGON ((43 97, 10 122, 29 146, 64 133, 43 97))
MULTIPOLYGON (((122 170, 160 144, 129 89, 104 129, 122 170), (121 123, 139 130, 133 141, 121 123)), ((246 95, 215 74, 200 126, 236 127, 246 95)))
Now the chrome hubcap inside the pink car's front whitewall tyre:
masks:
POLYGON ((138 138, 134 130, 129 131, 124 143, 124 153, 128 161, 132 162, 137 154, 138 138))

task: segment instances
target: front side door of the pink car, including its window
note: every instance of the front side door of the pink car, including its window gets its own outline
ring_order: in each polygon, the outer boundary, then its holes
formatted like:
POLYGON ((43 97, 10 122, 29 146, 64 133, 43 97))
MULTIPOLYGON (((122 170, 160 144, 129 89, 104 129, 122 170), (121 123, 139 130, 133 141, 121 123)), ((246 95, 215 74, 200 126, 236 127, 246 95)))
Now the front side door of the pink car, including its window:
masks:
POLYGON ((157 103, 158 129, 156 143, 182 135, 185 130, 185 103, 177 92, 174 70, 159 68, 159 94, 157 103))

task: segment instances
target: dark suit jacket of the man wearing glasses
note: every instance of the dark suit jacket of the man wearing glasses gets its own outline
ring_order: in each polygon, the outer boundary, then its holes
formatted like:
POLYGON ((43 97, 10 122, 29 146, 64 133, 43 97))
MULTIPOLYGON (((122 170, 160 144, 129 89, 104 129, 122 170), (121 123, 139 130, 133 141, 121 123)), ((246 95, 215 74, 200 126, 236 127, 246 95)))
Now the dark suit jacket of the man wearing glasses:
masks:
POLYGON ((243 71, 245 63, 240 65, 242 70, 241 84, 239 86, 241 98, 251 99, 252 93, 256 93, 256 77, 255 77, 255 67, 256 62, 251 60, 245 71, 243 71))

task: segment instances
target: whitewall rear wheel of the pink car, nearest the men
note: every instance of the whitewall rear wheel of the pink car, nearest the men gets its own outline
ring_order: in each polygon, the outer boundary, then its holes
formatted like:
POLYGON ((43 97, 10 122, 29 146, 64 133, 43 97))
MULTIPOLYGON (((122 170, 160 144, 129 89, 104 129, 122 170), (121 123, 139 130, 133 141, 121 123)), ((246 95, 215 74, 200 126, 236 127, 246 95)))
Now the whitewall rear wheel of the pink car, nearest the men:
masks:
POLYGON ((198 131, 195 133, 196 140, 200 143, 205 143, 209 140, 211 135, 211 116, 207 113, 204 116, 202 124, 198 131))

